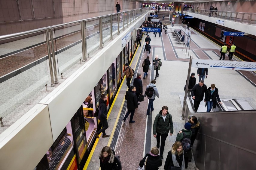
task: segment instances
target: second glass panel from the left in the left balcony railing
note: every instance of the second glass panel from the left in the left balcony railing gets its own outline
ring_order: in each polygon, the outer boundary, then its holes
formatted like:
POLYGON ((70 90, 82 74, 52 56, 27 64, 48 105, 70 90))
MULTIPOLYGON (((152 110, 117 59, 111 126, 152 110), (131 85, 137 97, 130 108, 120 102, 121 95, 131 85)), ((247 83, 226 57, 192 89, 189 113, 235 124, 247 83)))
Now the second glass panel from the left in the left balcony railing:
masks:
POLYGON ((82 58, 82 36, 79 23, 54 28, 54 51, 58 76, 82 58))

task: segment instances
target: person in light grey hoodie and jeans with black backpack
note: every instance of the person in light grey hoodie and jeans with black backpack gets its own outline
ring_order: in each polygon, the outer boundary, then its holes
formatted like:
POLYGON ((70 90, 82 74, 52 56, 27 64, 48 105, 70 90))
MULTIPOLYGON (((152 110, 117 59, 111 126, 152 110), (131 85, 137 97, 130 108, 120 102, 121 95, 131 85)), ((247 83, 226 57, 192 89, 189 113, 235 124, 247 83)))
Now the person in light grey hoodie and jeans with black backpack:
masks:
POLYGON ((153 112, 153 110, 154 110, 153 102, 154 102, 156 96, 159 98, 157 86, 155 84, 156 84, 156 81, 152 80, 150 82, 150 84, 147 85, 147 89, 144 94, 144 96, 145 97, 147 96, 148 100, 149 100, 147 115, 150 115, 150 109, 151 109, 151 112, 153 112))

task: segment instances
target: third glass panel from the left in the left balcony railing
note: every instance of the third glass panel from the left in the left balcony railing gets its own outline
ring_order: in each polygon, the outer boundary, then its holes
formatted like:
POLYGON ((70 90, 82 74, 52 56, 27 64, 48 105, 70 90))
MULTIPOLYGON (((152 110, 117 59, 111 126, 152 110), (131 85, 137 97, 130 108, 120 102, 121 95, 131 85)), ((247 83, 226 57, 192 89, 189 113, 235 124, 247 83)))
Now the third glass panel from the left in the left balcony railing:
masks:
POLYGON ((99 19, 85 22, 87 54, 99 48, 99 19))

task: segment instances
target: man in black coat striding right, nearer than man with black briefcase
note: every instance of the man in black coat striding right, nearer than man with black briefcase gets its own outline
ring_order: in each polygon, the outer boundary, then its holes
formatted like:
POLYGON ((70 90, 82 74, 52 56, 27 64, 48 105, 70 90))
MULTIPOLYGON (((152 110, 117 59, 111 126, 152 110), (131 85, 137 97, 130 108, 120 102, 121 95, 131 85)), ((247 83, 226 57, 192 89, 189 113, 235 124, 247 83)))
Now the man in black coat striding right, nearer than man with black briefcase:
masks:
POLYGON ((127 101, 128 111, 127 111, 127 113, 125 114, 125 116, 123 118, 123 122, 126 121, 127 117, 131 113, 129 123, 134 123, 135 121, 133 121, 133 115, 135 113, 135 109, 138 108, 138 101, 137 101, 136 87, 135 86, 131 86, 130 90, 128 90, 126 92, 125 99, 127 101))

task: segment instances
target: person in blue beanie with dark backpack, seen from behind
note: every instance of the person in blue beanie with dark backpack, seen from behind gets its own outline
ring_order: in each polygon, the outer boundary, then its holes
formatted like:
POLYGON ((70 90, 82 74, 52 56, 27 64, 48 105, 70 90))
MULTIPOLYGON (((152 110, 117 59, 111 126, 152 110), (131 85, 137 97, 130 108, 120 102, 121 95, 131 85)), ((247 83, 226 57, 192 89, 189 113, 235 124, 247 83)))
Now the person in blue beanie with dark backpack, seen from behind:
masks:
POLYGON ((180 141, 182 143, 182 148, 184 151, 185 168, 187 168, 188 152, 191 150, 191 137, 192 137, 191 124, 188 122, 185 123, 184 128, 185 129, 182 129, 181 131, 179 131, 176 137, 176 141, 180 141))

